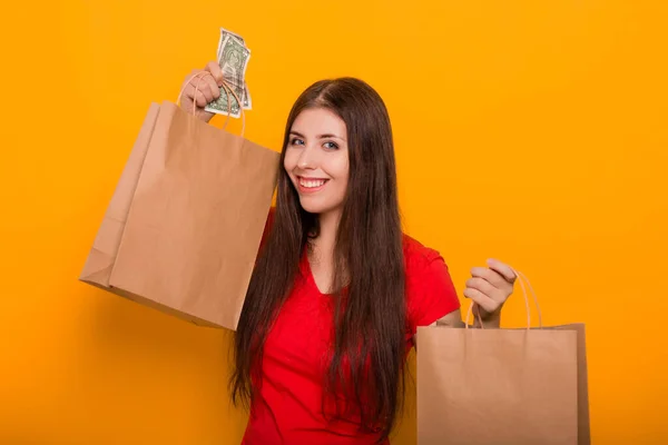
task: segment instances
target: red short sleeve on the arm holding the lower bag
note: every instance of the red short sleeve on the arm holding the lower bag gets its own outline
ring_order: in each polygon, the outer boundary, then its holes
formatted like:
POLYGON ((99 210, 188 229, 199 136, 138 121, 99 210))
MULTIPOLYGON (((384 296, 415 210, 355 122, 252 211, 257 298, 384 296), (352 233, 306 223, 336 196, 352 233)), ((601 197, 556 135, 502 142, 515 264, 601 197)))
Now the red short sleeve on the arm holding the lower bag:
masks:
POLYGON ((418 241, 407 243, 413 245, 405 249, 406 320, 412 337, 418 326, 429 326, 459 309, 460 300, 443 257, 418 241))

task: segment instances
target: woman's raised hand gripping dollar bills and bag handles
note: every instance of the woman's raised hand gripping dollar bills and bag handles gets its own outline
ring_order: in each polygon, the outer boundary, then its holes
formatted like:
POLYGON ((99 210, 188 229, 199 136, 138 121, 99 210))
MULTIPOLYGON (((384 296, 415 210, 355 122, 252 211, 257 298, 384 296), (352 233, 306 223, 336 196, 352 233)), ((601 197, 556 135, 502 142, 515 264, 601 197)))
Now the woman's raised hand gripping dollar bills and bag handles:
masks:
POLYGON ((186 112, 193 113, 193 103, 195 103, 195 116, 208 122, 214 113, 205 111, 204 107, 220 97, 222 86, 223 71, 217 62, 208 62, 203 70, 194 69, 181 86, 184 93, 180 99, 180 107, 186 112), (203 75, 194 77, 200 72, 203 75), (195 93, 195 87, 197 87, 197 93, 195 93))

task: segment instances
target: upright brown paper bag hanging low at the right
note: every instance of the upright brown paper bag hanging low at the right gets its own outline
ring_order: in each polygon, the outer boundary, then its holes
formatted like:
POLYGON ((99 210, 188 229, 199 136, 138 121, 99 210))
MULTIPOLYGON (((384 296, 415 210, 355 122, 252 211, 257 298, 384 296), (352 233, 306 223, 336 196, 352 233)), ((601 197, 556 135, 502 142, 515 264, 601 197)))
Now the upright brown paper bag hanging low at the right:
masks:
POLYGON ((418 329, 420 445, 590 443, 584 325, 529 323, 418 329))

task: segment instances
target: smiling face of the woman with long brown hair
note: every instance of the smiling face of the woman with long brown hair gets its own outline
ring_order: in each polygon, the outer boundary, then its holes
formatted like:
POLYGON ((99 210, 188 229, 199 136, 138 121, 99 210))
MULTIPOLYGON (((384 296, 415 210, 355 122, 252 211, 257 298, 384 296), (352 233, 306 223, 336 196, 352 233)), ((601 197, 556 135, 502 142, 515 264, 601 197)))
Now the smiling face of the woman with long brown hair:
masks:
POLYGON ((325 108, 308 108, 295 119, 284 168, 311 214, 340 211, 348 181, 345 122, 325 108))

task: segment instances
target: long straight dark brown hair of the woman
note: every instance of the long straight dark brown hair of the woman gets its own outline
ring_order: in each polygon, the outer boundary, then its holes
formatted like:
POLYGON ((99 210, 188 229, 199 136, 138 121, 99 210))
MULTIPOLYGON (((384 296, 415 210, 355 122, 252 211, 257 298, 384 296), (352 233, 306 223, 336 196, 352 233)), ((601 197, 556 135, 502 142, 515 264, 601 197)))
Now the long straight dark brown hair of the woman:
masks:
MULTIPOLYGON (((253 399, 263 347, 289 295, 317 215, 306 212, 283 159, 306 108, 335 112, 347 128, 350 179, 334 249, 334 344, 325 387, 344 390, 365 431, 391 433, 403 403, 405 278, 392 128, 377 92, 362 80, 322 80, 293 106, 283 140, 274 222, 258 255, 235 335, 235 404, 253 399), (370 369, 369 369, 370 367, 370 369)), ((315 235, 314 235, 315 234, 315 235)))

